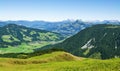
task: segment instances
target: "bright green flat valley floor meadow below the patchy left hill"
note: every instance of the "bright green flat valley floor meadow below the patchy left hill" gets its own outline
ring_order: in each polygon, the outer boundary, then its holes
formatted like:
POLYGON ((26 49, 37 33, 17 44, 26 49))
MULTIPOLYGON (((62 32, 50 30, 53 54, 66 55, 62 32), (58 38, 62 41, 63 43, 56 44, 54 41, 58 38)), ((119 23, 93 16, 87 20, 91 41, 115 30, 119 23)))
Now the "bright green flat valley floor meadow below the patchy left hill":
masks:
POLYGON ((53 42, 47 41, 36 41, 29 43, 22 43, 18 46, 8 46, 8 48, 0 48, 0 54, 4 53, 30 53, 33 49, 41 48, 43 46, 52 44, 53 42))

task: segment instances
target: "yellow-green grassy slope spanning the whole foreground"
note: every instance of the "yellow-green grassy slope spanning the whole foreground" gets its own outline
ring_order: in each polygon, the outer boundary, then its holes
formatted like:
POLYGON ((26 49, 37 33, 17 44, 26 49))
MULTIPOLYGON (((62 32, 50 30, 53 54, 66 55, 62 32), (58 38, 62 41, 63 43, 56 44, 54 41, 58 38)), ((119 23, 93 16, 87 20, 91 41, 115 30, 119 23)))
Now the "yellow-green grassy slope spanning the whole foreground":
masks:
POLYGON ((119 71, 120 59, 78 58, 66 52, 53 52, 29 59, 0 58, 2 71, 119 71))

